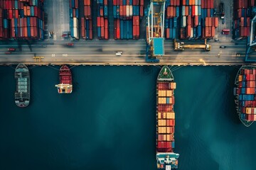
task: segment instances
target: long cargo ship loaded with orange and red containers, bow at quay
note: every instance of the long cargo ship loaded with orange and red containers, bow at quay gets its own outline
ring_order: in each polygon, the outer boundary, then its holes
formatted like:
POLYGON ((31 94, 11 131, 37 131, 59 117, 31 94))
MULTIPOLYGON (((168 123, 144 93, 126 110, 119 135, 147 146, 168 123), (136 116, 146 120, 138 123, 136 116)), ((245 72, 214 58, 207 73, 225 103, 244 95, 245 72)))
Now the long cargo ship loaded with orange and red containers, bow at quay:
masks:
POLYGON ((158 169, 177 169, 174 153, 174 89, 176 82, 169 67, 162 67, 156 81, 156 164, 158 169))

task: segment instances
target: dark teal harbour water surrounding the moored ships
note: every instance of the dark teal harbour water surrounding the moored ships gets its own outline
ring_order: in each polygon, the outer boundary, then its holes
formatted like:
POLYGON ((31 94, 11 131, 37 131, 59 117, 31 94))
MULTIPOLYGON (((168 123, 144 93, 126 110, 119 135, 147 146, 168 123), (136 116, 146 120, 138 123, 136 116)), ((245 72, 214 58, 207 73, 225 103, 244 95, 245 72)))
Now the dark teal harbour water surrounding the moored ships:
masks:
MULTIPOLYGON (((55 89, 59 67, 30 67, 27 108, 14 103, 14 67, 0 67, 0 169, 156 169, 159 67, 73 67, 70 95, 55 89)), ((256 124, 235 113, 237 71, 173 72, 179 169, 256 169, 256 124)))

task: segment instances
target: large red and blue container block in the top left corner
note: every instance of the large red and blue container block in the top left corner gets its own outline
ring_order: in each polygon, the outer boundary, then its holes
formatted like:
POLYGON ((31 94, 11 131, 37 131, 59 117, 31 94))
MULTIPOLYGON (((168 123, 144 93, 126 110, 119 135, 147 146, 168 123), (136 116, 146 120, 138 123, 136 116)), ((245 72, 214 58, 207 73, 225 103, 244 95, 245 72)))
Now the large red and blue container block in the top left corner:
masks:
POLYGON ((0 1, 0 39, 43 40, 43 0, 0 1))

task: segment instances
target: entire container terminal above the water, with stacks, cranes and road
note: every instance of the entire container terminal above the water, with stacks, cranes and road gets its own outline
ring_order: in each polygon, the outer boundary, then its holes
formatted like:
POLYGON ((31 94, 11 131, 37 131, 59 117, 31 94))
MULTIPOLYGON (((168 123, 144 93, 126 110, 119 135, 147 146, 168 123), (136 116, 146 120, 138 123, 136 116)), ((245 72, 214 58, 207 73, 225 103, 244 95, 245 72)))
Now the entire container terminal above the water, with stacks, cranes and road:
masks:
POLYGON ((253 0, 3 0, 1 64, 245 64, 255 11, 253 0))

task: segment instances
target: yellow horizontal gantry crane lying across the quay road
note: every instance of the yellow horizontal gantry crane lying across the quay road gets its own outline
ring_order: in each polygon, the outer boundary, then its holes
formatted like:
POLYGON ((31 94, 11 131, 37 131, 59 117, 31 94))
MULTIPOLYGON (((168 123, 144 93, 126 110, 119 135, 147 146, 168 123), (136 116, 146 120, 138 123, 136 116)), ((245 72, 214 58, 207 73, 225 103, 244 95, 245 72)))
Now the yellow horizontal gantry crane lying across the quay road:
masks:
POLYGON ((211 46, 206 43, 206 39, 203 45, 186 45, 185 42, 176 42, 176 39, 174 39, 174 50, 183 51, 185 49, 203 49, 206 51, 210 51, 211 46))

